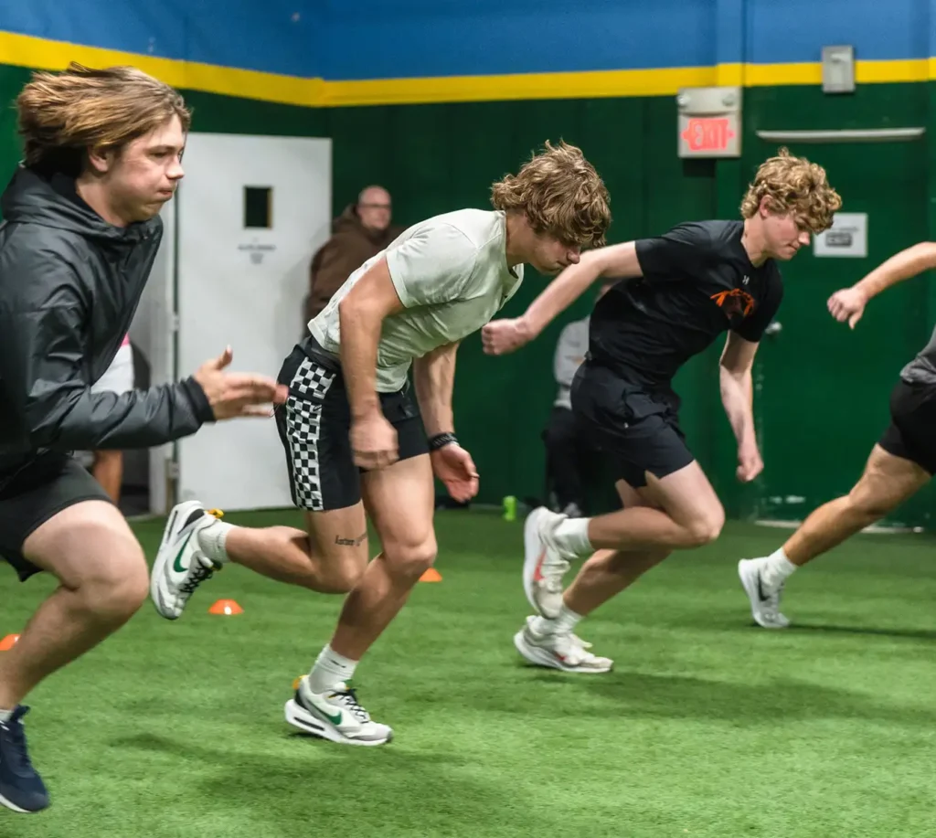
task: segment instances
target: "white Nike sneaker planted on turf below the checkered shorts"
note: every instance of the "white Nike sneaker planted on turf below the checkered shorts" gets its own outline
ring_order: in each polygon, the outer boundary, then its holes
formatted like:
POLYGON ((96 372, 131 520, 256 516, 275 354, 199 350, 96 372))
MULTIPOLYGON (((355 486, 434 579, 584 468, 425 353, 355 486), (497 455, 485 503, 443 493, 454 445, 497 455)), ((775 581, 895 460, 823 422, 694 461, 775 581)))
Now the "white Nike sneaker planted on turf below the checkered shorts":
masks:
POLYGON ((294 728, 331 742, 375 745, 393 739, 393 730, 372 721, 355 691, 344 683, 328 692, 313 692, 309 676, 303 676, 296 695, 286 701, 285 715, 294 728))

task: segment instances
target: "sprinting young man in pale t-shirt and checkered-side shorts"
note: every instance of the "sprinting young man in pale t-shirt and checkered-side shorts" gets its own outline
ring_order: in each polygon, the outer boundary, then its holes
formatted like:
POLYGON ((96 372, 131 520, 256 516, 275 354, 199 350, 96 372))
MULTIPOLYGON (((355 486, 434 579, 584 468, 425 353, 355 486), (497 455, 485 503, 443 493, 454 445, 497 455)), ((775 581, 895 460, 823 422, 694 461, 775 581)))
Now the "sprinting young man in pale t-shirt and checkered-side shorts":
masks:
POLYGON ((285 707, 290 724, 334 742, 379 745, 392 736, 350 681, 435 559, 433 472, 456 499, 477 492, 452 415, 459 341, 516 293, 524 264, 555 274, 600 244, 610 223, 604 183, 564 143, 547 144, 494 183, 491 203, 402 233, 344 282, 286 358, 279 427, 306 530, 231 527, 185 503, 169 518, 154 565, 154 603, 170 619, 204 569, 227 561, 348 593, 334 635, 285 707), (365 514, 383 544, 370 563, 365 514))

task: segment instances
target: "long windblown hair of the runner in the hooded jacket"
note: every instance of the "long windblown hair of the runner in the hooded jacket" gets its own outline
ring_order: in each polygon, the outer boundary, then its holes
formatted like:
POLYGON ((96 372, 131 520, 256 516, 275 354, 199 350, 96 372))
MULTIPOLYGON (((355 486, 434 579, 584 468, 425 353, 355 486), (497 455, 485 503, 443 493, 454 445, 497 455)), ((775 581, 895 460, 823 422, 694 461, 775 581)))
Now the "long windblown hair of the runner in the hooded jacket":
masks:
POLYGON ((26 166, 60 166, 77 175, 89 148, 120 149, 179 117, 192 115, 183 97, 142 70, 95 70, 72 63, 61 73, 37 72, 16 99, 26 166))

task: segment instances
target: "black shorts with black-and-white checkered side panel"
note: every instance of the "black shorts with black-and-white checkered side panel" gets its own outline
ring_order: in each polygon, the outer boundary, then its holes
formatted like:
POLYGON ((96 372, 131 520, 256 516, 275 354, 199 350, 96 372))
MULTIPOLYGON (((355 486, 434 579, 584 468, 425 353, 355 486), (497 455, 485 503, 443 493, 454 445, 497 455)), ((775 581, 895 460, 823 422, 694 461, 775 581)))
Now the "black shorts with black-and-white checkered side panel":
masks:
MULTIPOLYGON (((306 338, 285 359, 279 383, 288 385, 286 403, 276 411, 289 471, 293 503, 324 512, 360 500, 360 472, 351 454, 351 407, 341 364, 306 338)), ((429 454, 429 442, 409 386, 381 393, 380 408, 397 430, 401 460, 429 454)))

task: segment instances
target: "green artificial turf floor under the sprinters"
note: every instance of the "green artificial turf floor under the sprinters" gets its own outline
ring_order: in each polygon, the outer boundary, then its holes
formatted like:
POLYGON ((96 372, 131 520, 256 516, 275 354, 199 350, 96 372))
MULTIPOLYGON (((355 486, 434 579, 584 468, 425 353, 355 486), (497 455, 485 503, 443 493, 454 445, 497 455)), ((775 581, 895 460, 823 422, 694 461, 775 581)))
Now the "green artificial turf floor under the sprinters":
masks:
MULTIPOLYGON (((228 515, 298 523, 295 513, 228 515)), ((149 556, 161 522, 136 525, 149 556)), ((283 720, 340 599, 228 567, 170 623, 149 602, 29 697, 52 806, 2 838, 627 836, 840 838, 933 829, 936 568, 926 536, 864 536, 753 628, 735 566, 782 530, 729 525, 583 622, 607 675, 527 666, 522 525, 437 517, 420 584, 358 668, 396 738, 330 744, 283 720), (208 614, 237 600, 238 616, 208 614)), ((51 590, 0 575, 0 635, 51 590)), ((2 654, 2 653, 0 653, 2 654)))

